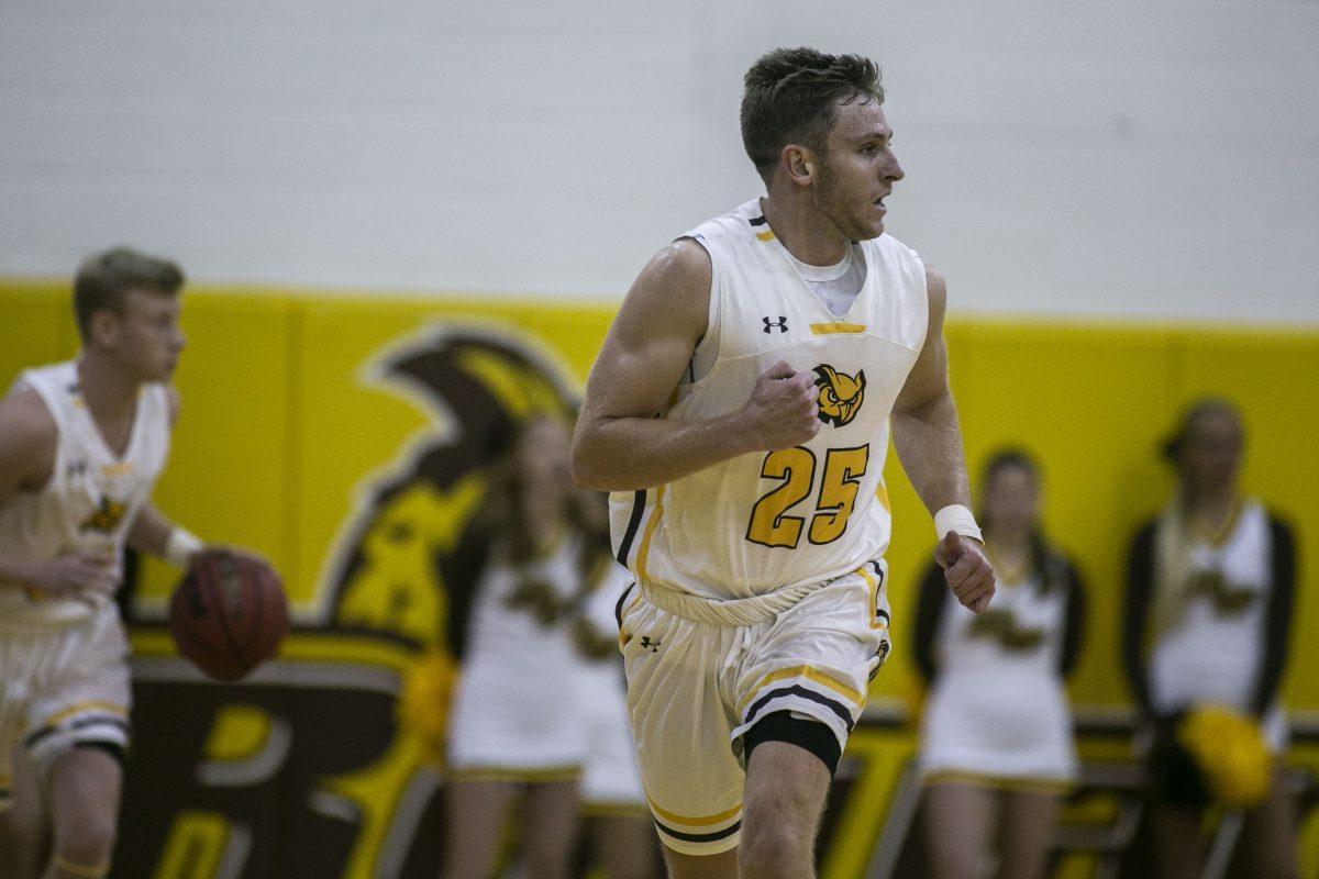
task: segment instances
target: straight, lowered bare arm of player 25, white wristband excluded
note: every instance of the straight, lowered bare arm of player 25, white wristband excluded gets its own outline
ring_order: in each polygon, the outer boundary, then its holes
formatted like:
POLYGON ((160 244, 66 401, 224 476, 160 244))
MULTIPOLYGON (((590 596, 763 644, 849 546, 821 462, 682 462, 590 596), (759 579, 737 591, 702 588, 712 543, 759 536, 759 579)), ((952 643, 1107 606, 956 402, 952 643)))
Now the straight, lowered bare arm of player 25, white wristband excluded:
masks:
MULTIPOLYGON (((958 407, 948 386, 948 348, 943 315, 948 290, 943 275, 926 266, 930 320, 925 347, 893 406, 893 445, 902 469, 930 513, 948 505, 971 505, 971 484, 962 449, 958 407)), ((964 606, 981 611, 995 592, 993 568, 977 540, 950 531, 939 542, 935 559, 954 594, 964 606)))

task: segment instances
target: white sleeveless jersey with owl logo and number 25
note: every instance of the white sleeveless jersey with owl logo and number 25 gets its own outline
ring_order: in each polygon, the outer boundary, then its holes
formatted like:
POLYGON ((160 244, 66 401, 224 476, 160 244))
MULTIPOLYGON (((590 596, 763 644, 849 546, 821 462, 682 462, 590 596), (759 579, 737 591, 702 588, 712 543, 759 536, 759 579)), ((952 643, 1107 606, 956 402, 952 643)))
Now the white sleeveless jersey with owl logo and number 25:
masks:
POLYGON ((612 494, 619 561, 642 582, 728 600, 818 582, 882 556, 889 414, 929 323, 923 262, 888 235, 853 244, 865 282, 835 316, 802 279, 758 200, 687 237, 714 265, 702 348, 715 344, 718 356, 707 373, 678 386, 665 418, 735 411, 782 360, 815 374, 824 423, 805 445, 612 494))

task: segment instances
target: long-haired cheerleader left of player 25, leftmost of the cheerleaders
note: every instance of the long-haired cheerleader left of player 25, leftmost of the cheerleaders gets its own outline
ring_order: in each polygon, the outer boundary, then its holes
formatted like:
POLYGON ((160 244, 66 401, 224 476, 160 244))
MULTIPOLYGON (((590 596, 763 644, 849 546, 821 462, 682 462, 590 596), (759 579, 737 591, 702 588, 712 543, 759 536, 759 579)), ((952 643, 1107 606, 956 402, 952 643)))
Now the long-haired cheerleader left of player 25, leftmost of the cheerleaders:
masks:
POLYGON ((474 573, 451 584, 472 605, 448 734, 446 879, 493 874, 518 795, 522 875, 567 875, 587 756, 570 609, 596 556, 578 501, 568 428, 534 418, 459 553, 455 567, 474 573))

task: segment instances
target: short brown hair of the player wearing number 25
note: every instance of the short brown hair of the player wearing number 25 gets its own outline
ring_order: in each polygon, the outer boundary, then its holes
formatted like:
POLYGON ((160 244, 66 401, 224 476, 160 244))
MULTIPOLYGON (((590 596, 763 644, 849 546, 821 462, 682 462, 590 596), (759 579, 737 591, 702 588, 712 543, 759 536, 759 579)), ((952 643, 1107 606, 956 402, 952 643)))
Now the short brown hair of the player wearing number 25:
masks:
POLYGON ((880 69, 873 61, 815 49, 768 51, 747 71, 744 83, 743 146, 766 183, 789 144, 824 154, 838 104, 859 99, 884 103, 880 69))

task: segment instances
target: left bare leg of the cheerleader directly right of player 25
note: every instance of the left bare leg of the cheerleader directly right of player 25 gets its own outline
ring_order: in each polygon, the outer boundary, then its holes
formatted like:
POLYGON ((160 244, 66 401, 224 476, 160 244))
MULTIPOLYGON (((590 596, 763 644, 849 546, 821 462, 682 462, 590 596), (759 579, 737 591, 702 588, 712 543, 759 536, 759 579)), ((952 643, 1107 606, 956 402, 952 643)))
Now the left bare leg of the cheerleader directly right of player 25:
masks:
POLYGON ((921 838, 933 879, 972 879, 989 851, 998 792, 966 781, 933 781, 921 795, 921 838))

